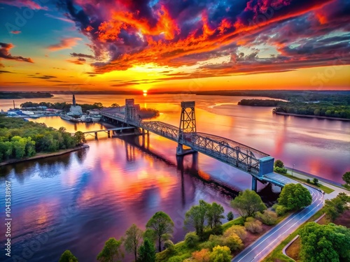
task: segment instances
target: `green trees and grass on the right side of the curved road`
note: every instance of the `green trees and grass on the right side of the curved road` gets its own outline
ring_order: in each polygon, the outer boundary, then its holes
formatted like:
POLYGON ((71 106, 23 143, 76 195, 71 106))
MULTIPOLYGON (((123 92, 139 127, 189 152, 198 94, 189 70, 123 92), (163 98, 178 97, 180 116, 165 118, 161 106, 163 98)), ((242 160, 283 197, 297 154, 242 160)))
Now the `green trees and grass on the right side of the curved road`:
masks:
MULTIPOLYGON (((350 197, 344 193, 339 193, 336 198, 326 200, 325 206, 309 219, 309 221, 314 221, 316 218, 321 217, 322 214, 325 214, 325 221, 327 221, 325 225, 321 226, 314 222, 303 224, 286 240, 283 240, 264 261, 293 261, 282 254, 282 249, 298 234, 301 236, 301 242, 296 251, 298 257, 293 257, 293 259, 315 262, 350 261, 350 252, 346 248, 349 247, 350 229, 333 224, 346 211, 350 210, 349 204, 350 197)), ((293 245, 295 244, 293 243, 293 245)))

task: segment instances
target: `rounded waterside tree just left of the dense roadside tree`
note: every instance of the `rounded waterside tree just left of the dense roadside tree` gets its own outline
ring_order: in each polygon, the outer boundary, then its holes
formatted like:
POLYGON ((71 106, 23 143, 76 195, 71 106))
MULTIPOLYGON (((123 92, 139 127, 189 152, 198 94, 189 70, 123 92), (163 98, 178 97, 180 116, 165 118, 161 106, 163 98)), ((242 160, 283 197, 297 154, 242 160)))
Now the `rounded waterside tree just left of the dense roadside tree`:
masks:
POLYGON ((262 203, 260 196, 249 189, 239 192, 239 195, 231 201, 231 206, 238 210, 244 220, 246 217, 254 217, 256 212, 262 212, 266 209, 266 205, 262 203))

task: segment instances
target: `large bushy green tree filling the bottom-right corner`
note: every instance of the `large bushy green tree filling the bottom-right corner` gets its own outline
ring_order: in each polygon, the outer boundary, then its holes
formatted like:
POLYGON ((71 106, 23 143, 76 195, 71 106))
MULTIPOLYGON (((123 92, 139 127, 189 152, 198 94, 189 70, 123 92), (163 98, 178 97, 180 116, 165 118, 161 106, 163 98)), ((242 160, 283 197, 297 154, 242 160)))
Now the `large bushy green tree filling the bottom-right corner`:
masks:
POLYGON ((350 229, 335 224, 307 223, 299 231, 302 261, 350 261, 350 229))

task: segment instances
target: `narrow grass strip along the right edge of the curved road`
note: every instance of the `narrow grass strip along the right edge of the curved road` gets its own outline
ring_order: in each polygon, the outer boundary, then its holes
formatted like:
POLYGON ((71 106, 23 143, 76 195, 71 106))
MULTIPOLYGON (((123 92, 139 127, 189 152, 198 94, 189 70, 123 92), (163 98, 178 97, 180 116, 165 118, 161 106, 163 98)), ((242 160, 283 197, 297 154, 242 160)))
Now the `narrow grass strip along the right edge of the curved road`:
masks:
POLYGON ((323 214, 323 208, 321 210, 318 210, 318 212, 316 212, 316 214, 314 214, 309 220, 307 220, 304 224, 302 224, 299 228, 297 228, 296 231, 291 233, 288 236, 288 238, 283 240, 281 242, 281 244, 279 244, 264 260, 262 260, 262 262, 274 262, 274 261, 292 262, 292 261, 294 261, 293 259, 290 259, 288 256, 285 256, 282 254, 283 248, 286 247, 286 245, 290 241, 292 241, 296 235, 299 234, 300 228, 303 228, 307 222, 315 221, 316 219, 318 219, 318 217, 321 217, 322 214, 323 214))

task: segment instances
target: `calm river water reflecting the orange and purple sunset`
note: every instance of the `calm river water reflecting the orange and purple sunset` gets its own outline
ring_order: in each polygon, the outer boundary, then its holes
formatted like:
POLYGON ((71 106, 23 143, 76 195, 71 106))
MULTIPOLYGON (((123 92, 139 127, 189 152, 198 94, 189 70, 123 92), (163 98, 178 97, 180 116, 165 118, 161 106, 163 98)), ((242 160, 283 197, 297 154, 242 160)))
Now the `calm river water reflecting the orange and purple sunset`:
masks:
MULTIPOLYGON (((55 96, 49 101, 70 101, 55 96)), ((179 125, 180 101, 196 101, 197 130, 225 136, 282 159, 286 166, 342 182, 350 170, 350 122, 272 115, 272 108, 238 106, 241 97, 137 96, 141 107, 160 110, 158 119, 179 125), (171 102, 169 102, 171 101, 171 102)), ((124 104, 125 96, 77 96, 78 103, 124 104)), ((42 101, 42 99, 32 99, 42 101)), ((23 103, 18 100, 16 103, 23 103)), ((0 101, 7 110, 12 101, 0 101)), ((59 117, 36 119, 67 131, 103 129, 101 124, 71 124, 59 117)), ((176 143, 151 133, 141 137, 88 137, 90 148, 60 157, 27 161, 1 168, 0 187, 12 182, 12 254, 27 261, 58 261, 71 249, 79 261, 95 257, 110 237, 120 238, 132 223, 141 228, 157 211, 176 224, 181 240, 183 214, 200 199, 216 201, 230 211, 234 191, 251 187, 251 176, 202 154, 186 156, 183 168, 174 155, 176 143), (197 168, 199 171, 197 171, 197 168), (223 190, 216 182, 233 191, 223 190)), ((273 200, 276 187, 259 184, 273 200)), ((4 206, 1 194, 1 206, 4 206)), ((1 223, 1 232, 3 231, 1 223)), ((3 234, 0 236, 3 243, 3 234)), ((3 256, 1 261, 12 261, 3 256)), ((127 257, 125 261, 130 260, 127 257)), ((20 260, 18 260, 20 261, 20 260)))

